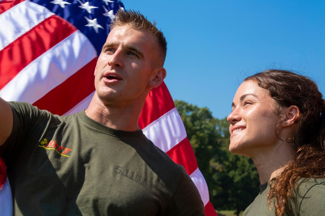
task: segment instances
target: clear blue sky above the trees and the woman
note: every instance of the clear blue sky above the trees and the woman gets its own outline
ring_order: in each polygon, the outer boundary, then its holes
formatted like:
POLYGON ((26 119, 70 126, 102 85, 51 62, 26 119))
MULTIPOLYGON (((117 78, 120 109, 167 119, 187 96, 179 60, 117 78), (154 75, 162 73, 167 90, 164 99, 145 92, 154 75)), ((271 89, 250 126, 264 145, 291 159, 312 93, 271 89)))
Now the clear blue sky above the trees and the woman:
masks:
POLYGON ((243 78, 269 68, 299 71, 325 94, 325 1, 122 2, 163 31, 174 100, 224 118, 243 78))

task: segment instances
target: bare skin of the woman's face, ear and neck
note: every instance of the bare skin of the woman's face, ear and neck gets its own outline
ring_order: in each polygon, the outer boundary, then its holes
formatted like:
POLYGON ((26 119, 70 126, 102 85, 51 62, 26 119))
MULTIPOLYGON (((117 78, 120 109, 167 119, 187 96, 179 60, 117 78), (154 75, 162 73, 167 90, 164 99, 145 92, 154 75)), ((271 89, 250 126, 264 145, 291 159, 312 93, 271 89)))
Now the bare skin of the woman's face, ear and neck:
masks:
POLYGON ((296 106, 283 108, 277 116, 275 107, 275 100, 265 89, 246 81, 238 88, 232 112, 227 117, 229 150, 253 159, 261 184, 277 176, 295 152, 292 143, 286 140, 296 130, 294 120, 299 109, 296 106))

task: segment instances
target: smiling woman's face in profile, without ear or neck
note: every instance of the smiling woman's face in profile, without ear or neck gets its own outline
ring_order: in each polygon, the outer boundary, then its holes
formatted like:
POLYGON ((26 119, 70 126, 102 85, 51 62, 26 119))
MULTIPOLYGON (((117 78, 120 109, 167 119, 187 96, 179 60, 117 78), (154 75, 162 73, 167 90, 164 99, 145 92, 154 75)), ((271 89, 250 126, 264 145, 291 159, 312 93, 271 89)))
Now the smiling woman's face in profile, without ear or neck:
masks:
POLYGON ((239 86, 227 118, 232 153, 254 157, 279 141, 275 105, 274 99, 255 82, 246 81, 239 86))

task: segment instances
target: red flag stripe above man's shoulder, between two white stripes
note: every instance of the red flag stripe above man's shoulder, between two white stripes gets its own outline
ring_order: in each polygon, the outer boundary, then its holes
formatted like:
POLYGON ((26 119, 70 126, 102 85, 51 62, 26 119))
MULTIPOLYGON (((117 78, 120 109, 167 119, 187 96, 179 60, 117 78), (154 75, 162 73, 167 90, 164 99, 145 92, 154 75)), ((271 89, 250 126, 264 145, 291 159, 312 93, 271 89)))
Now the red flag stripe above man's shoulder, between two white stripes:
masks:
POLYGON ((188 138, 183 139, 180 143, 168 150, 166 154, 175 163, 184 166, 189 175, 198 168, 198 163, 196 162, 194 151, 188 141, 188 138))

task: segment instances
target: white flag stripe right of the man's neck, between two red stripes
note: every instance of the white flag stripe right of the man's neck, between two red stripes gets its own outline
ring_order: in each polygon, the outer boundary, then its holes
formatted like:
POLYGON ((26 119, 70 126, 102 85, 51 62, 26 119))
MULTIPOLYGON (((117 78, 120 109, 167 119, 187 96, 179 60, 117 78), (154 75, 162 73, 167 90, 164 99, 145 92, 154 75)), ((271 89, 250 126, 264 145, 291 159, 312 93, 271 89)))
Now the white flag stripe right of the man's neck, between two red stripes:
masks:
POLYGON ((167 152, 186 138, 185 127, 176 108, 151 122, 143 129, 143 133, 164 152, 167 152))

